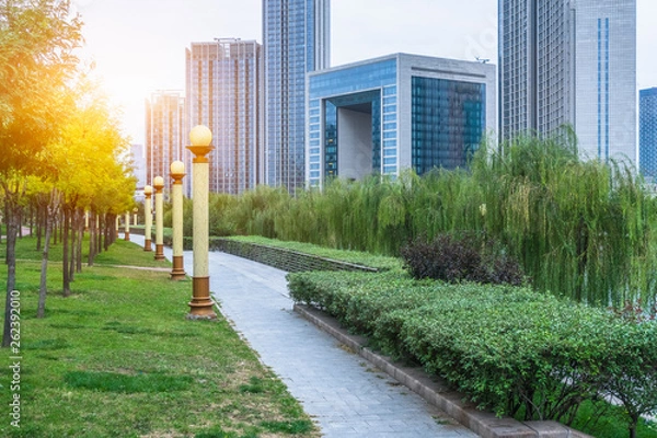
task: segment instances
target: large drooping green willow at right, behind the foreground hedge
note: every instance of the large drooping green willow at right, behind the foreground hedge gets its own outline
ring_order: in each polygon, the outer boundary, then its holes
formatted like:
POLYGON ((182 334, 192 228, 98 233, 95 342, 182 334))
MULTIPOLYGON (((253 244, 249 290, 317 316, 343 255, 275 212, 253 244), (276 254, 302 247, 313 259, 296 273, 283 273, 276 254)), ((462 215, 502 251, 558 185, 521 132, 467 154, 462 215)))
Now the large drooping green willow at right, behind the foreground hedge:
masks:
POLYGON ((568 138, 520 138, 473 163, 485 227, 534 287, 598 306, 654 299, 655 201, 623 162, 581 160, 568 138))

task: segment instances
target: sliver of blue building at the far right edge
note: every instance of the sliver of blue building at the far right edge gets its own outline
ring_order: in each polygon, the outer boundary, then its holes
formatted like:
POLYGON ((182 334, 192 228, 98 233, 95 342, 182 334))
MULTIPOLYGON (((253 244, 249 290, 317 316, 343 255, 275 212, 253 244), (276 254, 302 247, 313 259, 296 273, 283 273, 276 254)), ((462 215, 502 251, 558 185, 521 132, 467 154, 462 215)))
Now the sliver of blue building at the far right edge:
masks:
POLYGON ((657 183, 657 88, 638 95, 639 170, 649 183, 657 183))

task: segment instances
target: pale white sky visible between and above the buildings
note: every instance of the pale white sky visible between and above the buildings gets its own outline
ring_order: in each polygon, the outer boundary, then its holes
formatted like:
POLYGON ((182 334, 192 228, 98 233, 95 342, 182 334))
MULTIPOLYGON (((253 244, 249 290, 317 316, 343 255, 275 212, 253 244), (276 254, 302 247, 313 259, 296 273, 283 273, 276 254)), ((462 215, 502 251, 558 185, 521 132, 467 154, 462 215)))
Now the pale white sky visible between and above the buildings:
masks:
MULTIPOLYGON (((262 0, 73 0, 80 56, 143 143, 145 100, 185 88, 185 48, 215 37, 262 43, 262 0)), ((637 88, 657 87, 657 1, 637 0, 637 88)), ((331 65, 408 53, 497 64, 497 0, 332 0, 331 65)))

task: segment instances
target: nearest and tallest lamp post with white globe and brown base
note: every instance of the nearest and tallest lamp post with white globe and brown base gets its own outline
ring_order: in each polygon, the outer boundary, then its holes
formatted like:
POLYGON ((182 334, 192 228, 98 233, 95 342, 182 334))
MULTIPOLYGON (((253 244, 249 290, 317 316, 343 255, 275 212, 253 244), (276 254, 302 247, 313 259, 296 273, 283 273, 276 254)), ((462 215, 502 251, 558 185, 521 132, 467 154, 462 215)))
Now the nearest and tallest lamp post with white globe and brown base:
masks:
POLYGON ((194 195, 194 275, 193 297, 189 302, 187 319, 216 319, 210 299, 210 276, 208 266, 208 195, 209 195, 209 160, 206 157, 214 149, 210 146, 212 132, 207 126, 197 125, 189 132, 192 146, 187 149, 194 153, 192 165, 192 186, 194 195))

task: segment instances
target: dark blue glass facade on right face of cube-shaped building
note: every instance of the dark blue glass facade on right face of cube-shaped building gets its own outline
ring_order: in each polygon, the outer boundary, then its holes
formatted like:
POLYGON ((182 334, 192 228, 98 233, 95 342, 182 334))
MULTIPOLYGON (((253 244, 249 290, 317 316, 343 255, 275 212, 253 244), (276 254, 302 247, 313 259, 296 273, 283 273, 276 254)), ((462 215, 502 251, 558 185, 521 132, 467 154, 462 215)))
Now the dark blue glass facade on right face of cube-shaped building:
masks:
POLYGON ((486 85, 414 77, 412 87, 415 172, 465 166, 486 129, 486 85))

